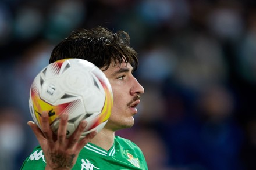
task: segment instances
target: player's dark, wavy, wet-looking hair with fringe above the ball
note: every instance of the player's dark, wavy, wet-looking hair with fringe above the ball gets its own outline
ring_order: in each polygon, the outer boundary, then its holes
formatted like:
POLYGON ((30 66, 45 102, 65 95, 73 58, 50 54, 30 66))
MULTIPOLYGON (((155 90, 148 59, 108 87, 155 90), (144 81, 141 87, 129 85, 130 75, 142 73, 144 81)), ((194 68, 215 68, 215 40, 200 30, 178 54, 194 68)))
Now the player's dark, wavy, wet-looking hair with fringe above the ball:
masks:
POLYGON ((125 31, 114 34, 103 27, 72 32, 52 50, 49 63, 67 58, 88 60, 104 70, 112 61, 119 66, 123 62, 130 63, 134 70, 138 66, 137 52, 130 47, 129 35, 125 31))

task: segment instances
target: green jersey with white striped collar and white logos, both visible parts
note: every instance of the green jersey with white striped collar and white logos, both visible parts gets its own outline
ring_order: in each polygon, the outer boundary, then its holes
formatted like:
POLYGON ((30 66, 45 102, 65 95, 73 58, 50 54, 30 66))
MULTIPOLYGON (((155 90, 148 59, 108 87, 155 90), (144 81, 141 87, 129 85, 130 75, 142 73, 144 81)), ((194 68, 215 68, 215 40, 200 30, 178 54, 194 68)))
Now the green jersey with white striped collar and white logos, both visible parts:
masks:
MULTIPOLYGON (((23 162, 23 170, 45 169, 44 153, 40 146, 23 162)), ((148 169, 140 148, 130 140, 115 136, 115 143, 106 151, 92 143, 87 143, 80 151, 72 169, 148 169)))

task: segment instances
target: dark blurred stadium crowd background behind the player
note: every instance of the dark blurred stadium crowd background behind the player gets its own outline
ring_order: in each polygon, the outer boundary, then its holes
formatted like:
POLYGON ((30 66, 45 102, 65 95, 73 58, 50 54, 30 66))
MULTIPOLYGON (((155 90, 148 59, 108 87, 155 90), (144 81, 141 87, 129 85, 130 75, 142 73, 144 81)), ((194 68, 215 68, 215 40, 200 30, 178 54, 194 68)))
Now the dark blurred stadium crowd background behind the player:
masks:
POLYGON ((76 28, 130 34, 145 88, 136 124, 117 135, 149 169, 256 169, 256 1, 1 0, 0 169, 38 142, 28 96, 51 50, 76 28))

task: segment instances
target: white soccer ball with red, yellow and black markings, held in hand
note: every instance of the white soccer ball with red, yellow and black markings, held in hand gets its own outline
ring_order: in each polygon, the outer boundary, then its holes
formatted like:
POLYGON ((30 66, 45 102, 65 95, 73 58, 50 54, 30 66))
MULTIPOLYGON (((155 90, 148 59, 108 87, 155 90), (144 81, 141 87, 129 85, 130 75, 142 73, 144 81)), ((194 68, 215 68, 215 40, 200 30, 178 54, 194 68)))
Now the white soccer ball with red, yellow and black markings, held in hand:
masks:
POLYGON ((93 63, 82 59, 62 59, 49 64, 35 77, 29 94, 30 113, 41 128, 41 113, 49 115, 52 131, 58 132, 60 116, 68 113, 66 136, 80 121, 87 126, 81 138, 104 128, 113 106, 111 85, 93 63))

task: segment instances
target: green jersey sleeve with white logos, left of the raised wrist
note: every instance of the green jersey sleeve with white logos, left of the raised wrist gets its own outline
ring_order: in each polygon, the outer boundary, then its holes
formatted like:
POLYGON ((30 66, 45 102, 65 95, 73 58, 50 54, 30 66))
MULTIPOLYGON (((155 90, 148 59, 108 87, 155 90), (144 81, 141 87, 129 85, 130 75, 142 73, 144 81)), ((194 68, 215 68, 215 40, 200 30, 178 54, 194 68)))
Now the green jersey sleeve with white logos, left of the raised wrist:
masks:
POLYGON ((45 169, 45 159, 44 153, 41 150, 41 147, 37 147, 33 150, 33 152, 29 155, 29 157, 24 160, 21 170, 41 170, 45 169))

